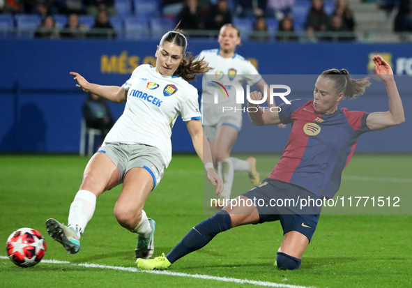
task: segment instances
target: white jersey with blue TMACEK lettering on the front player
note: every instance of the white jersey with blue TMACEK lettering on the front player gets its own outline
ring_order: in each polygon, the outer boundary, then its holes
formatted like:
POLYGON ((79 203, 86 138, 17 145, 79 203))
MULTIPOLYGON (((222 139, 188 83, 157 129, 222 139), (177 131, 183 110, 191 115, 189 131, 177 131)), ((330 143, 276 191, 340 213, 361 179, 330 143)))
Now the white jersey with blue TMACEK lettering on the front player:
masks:
POLYGON ((137 67, 125 83, 125 110, 107 134, 105 143, 146 144, 160 150, 166 167, 171 160, 171 128, 201 119, 197 89, 181 77, 164 76, 150 65, 137 67))

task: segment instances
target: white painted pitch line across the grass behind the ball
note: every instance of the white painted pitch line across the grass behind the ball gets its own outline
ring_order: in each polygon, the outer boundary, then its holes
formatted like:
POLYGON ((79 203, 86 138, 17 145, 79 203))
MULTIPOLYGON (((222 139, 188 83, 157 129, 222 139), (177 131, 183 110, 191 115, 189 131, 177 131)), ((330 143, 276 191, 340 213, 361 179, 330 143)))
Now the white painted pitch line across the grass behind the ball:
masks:
MULTIPOLYGON (((8 259, 8 257, 0 256, 0 259, 8 259)), ((86 267, 86 268, 112 269, 112 270, 138 272, 138 273, 151 273, 151 274, 160 274, 160 275, 187 277, 187 278, 198 278, 198 279, 204 279, 204 280, 217 280, 221 282, 234 282, 238 284, 251 284, 251 285, 257 285, 257 286, 264 286, 264 287, 312 288, 312 287, 280 284, 280 283, 266 282, 266 281, 217 277, 217 276, 211 276, 211 275, 187 274, 187 273, 178 273, 178 272, 170 272, 170 271, 145 271, 145 270, 140 270, 139 268, 135 268, 135 267, 108 266, 108 265, 88 264, 88 263, 71 263, 68 261, 59 261, 59 260, 54 260, 54 259, 53 260, 45 259, 45 260, 42 260, 42 263, 65 264, 65 265, 71 265, 71 266, 81 266, 81 267, 86 267)))

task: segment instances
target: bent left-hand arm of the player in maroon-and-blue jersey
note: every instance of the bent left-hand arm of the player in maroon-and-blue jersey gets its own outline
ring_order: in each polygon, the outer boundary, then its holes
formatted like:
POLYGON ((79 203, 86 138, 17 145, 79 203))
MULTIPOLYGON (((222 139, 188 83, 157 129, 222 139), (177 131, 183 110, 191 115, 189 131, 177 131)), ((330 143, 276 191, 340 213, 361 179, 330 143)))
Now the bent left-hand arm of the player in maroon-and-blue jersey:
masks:
MULTIPOLYGON (((250 93, 250 98, 252 100, 261 100, 262 93, 258 91, 253 91, 250 93)), ((279 113, 277 111, 270 111, 270 109, 262 109, 258 104, 252 104, 247 102, 248 107, 256 107, 257 109, 247 109, 247 114, 249 115, 250 121, 257 126, 265 125, 277 125, 280 124, 279 113)))

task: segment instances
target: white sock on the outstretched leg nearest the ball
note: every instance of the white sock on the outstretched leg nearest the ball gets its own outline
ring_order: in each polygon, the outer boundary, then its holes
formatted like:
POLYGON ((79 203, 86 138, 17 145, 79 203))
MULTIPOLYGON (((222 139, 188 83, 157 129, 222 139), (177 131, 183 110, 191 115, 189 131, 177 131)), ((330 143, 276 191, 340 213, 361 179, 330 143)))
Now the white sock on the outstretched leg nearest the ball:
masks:
POLYGON ((68 226, 75 229, 77 236, 82 236, 87 222, 91 220, 96 209, 96 195, 87 190, 79 190, 70 205, 68 226))

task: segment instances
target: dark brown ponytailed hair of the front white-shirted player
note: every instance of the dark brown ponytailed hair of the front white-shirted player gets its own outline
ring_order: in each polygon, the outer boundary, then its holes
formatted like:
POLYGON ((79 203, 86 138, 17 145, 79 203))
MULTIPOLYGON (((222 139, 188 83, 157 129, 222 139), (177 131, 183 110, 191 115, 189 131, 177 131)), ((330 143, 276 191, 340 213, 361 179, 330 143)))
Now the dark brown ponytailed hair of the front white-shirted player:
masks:
MULTIPOLYGON (((188 47, 188 40, 186 40, 186 37, 183 35, 182 31, 178 29, 169 31, 163 35, 159 46, 162 47, 165 42, 182 47, 183 55, 188 47)), ((196 79, 196 74, 206 73, 208 70, 212 69, 213 68, 208 67, 208 62, 204 61, 204 59, 196 59, 192 53, 188 53, 188 56, 183 59, 183 63, 178 66, 174 76, 182 77, 185 81, 190 82, 196 79)))

